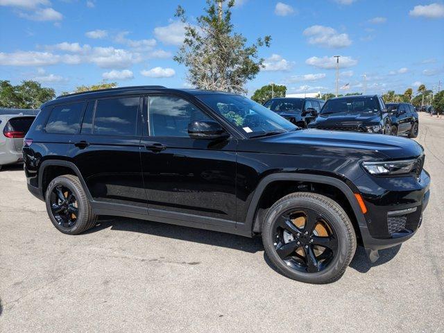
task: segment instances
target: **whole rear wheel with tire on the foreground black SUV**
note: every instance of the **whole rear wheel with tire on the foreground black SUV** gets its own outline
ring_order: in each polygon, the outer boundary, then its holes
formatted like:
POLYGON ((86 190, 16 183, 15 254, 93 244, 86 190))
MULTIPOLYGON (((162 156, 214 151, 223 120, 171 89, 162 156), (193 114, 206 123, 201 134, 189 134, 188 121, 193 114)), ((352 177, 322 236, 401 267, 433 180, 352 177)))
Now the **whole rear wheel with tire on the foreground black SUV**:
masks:
POLYGON ((46 211, 53 225, 65 234, 80 234, 96 223, 85 190, 76 176, 54 178, 45 193, 46 211))

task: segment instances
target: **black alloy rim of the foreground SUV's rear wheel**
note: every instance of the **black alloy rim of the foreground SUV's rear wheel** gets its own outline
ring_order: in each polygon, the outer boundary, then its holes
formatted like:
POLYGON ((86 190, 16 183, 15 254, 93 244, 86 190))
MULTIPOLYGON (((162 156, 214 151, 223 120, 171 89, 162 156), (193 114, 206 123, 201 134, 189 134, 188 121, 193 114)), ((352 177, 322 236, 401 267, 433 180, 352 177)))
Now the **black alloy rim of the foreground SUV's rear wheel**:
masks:
POLYGON ((77 222, 78 203, 71 189, 58 185, 49 196, 51 212, 61 228, 71 229, 77 222))

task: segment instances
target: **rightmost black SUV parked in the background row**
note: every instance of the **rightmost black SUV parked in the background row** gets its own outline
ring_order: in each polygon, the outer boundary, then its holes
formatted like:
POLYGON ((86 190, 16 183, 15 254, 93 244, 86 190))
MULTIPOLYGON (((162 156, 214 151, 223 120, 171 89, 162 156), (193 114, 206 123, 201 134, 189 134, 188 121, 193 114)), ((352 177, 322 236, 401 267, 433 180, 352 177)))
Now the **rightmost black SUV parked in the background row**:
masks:
POLYGON ((391 135, 418 137, 419 118, 410 103, 386 103, 391 117, 391 135))

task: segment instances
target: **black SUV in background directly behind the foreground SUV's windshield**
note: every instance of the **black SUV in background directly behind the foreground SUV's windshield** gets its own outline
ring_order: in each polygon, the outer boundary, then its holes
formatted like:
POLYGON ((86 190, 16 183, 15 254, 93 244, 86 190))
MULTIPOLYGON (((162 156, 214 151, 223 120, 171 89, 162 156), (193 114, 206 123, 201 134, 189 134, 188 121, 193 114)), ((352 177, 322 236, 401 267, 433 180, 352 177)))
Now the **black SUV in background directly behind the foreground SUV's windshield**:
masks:
POLYGON ((322 99, 280 97, 267 101, 264 106, 300 128, 307 128, 324 105, 322 99))

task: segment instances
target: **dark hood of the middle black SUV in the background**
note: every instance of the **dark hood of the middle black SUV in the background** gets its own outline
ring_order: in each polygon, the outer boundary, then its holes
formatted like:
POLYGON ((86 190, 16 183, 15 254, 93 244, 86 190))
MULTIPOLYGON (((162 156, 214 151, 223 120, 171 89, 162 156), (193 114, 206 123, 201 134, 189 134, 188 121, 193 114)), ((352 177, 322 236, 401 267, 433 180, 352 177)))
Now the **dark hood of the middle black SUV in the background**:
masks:
POLYGON ((328 127, 328 126, 361 126, 361 125, 377 125, 381 121, 381 116, 377 113, 362 112, 350 113, 339 112, 331 114, 320 114, 313 121, 311 127, 328 127))

